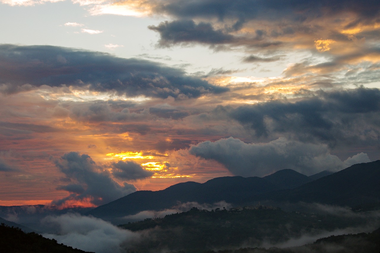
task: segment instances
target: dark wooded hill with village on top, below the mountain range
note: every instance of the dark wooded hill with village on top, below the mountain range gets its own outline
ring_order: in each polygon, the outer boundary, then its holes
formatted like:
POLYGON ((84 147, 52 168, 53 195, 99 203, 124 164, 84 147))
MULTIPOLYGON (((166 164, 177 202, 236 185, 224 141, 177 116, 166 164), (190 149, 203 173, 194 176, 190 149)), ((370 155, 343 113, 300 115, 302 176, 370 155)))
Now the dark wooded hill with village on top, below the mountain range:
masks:
POLYGON ((207 211, 193 207, 187 212, 166 215, 164 218, 147 218, 119 227, 144 231, 144 239, 132 242, 127 252, 166 250, 195 253, 214 248, 236 249, 241 245, 281 245, 291 239, 297 240, 304 236, 319 238, 318 235, 331 234, 337 229, 379 222, 378 217, 371 217, 367 213, 356 214, 347 219, 324 212, 284 212, 267 206, 236 208, 230 211, 207 211))

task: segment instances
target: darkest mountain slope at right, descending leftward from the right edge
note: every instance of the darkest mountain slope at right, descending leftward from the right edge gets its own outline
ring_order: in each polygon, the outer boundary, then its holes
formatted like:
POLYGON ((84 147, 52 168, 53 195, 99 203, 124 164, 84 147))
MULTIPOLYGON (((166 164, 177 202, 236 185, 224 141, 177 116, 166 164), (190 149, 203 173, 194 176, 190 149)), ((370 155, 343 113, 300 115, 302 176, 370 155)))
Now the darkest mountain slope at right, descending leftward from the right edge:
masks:
POLYGON ((380 160, 354 164, 300 187, 264 193, 256 200, 318 202, 353 206, 380 199, 380 160))

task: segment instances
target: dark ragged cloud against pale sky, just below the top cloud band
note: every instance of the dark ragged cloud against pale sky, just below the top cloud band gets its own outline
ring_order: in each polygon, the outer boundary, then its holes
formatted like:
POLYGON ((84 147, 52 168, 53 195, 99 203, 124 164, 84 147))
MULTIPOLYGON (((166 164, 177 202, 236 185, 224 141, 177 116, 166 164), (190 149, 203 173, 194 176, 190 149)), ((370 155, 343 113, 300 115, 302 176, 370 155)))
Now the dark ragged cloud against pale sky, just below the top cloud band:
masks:
POLYGON ((214 30, 210 23, 195 24, 192 20, 165 21, 148 28, 160 33, 160 46, 189 42, 221 44, 234 40, 232 35, 225 34, 222 30, 214 30))

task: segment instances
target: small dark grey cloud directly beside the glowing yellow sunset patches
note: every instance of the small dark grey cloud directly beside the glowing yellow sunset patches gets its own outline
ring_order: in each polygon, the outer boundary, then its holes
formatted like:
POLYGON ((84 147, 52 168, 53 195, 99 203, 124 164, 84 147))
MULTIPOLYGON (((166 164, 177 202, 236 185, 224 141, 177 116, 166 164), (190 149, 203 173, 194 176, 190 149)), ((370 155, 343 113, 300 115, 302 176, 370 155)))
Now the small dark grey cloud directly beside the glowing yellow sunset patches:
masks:
POLYGON ((152 171, 147 171, 133 161, 118 161, 112 164, 112 168, 112 174, 115 177, 126 180, 143 179, 154 174, 152 171))

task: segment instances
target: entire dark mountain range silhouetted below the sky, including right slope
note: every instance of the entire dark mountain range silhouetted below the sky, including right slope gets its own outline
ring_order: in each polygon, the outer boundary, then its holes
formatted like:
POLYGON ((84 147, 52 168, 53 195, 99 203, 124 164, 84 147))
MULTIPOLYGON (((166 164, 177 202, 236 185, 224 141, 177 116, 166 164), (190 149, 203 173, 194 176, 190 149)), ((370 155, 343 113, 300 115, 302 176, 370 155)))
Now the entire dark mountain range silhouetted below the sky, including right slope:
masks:
POLYGON ((144 210, 169 209, 179 202, 212 204, 226 201, 242 206, 271 200, 354 206, 379 201, 379 179, 380 160, 355 164, 333 174, 324 171, 310 177, 283 169, 262 178, 218 177, 205 183, 178 183, 160 191, 136 191, 87 214, 112 220, 144 210))

